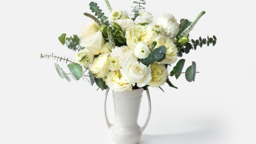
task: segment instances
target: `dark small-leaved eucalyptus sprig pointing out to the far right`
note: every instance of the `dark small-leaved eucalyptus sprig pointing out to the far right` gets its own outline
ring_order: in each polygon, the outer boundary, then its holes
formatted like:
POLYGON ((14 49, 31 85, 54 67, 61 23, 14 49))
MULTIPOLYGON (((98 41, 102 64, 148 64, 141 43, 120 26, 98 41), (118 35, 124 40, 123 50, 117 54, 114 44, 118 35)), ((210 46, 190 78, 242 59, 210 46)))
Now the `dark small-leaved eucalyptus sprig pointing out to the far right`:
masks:
POLYGON ((210 44, 212 44, 212 46, 215 46, 216 42, 217 42, 217 38, 216 38, 216 36, 213 36, 210 38, 209 38, 209 36, 207 36, 207 39, 206 38, 202 39, 200 36, 199 39, 197 39, 197 40, 191 39, 191 42, 193 44, 187 43, 185 45, 185 47, 181 47, 178 49, 178 57, 182 57, 183 56, 182 53, 188 54, 191 49, 196 50, 197 46, 202 47, 203 45, 206 45, 206 44, 207 44, 207 46, 209 46, 210 44))

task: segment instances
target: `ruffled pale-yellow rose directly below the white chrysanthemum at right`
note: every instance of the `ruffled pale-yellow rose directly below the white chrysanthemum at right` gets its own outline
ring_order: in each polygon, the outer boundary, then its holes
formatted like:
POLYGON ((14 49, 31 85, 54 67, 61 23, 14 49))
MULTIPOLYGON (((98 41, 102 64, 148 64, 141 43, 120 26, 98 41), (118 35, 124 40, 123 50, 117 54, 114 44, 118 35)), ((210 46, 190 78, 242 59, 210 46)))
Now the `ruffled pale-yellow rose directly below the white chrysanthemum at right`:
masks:
POLYGON ((167 51, 165 53, 165 59, 160 62, 162 64, 173 64, 176 62, 177 60, 177 56, 178 56, 178 48, 176 47, 176 45, 173 43, 173 41, 163 35, 157 36, 154 38, 154 41, 157 42, 156 47, 160 47, 160 46, 165 46, 167 51))

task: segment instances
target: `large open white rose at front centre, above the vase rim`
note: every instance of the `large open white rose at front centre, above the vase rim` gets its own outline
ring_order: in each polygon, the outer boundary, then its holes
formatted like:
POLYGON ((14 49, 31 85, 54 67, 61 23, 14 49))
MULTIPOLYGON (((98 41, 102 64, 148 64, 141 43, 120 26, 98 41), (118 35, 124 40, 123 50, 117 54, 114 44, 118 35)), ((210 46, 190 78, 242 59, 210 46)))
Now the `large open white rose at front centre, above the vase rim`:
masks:
POLYGON ((144 87, 151 81, 151 69, 139 63, 136 57, 129 57, 125 67, 120 69, 124 78, 133 86, 137 83, 138 87, 144 87))

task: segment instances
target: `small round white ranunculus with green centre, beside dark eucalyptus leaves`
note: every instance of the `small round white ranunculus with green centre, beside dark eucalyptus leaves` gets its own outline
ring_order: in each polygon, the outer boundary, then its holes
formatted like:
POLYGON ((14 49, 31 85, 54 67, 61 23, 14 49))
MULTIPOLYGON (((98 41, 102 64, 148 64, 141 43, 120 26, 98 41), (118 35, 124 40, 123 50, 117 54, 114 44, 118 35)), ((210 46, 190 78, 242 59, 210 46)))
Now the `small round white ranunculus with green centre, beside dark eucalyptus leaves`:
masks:
POLYGON ((144 43, 139 43, 134 49, 135 56, 140 59, 147 58, 150 53, 151 51, 149 50, 148 46, 144 43))

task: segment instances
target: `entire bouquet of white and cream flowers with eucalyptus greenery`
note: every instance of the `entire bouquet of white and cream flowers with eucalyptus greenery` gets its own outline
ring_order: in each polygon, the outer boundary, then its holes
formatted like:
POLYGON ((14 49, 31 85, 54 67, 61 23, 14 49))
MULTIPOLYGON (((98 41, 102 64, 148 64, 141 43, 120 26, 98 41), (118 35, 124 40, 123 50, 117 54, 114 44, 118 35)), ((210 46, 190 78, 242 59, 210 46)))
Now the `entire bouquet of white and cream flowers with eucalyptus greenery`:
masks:
MULTIPOLYGON (((133 2, 133 18, 125 10, 113 11, 109 1, 104 1, 111 13, 109 17, 102 13, 97 3, 91 2, 89 5, 94 15, 84 13, 92 19, 91 22, 82 27, 77 35, 59 36, 62 45, 77 52, 74 60, 54 54, 41 54, 41 58, 54 58, 57 62, 69 63, 69 73, 55 64, 62 79, 69 82, 71 78, 87 79, 91 86, 96 83, 98 89, 110 88, 117 96, 128 94, 132 90, 147 90, 147 87, 159 87, 163 90, 161 86, 165 83, 177 88, 168 76, 178 79, 182 73, 185 73, 187 81, 195 81, 196 63, 192 62, 186 72, 182 72, 185 59, 178 57, 199 46, 216 44, 215 36, 208 36, 207 39, 200 37, 197 40, 189 36, 205 11, 197 15, 193 22, 181 19, 178 23, 171 14, 157 15, 153 22, 153 15, 145 9, 144 0, 133 2), (167 67, 176 63, 177 59, 179 61, 176 66, 168 72, 167 67)), ((130 95, 133 94, 130 92, 130 95)), ((135 143, 138 139, 140 138, 114 141, 124 144, 124 141, 135 143)))

